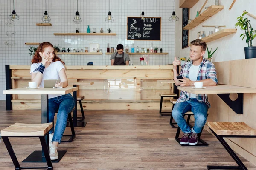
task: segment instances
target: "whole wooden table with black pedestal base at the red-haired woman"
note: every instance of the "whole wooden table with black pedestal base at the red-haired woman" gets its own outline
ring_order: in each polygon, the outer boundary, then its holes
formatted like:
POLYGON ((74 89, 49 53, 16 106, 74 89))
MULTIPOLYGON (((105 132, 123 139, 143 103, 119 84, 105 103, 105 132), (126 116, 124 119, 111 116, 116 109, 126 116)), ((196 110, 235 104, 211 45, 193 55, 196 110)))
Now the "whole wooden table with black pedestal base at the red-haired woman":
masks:
MULTIPOLYGON (((28 88, 16 88, 10 90, 4 90, 3 94, 41 94, 41 123, 48 123, 49 120, 49 105, 48 105, 48 95, 49 94, 69 94, 71 92, 77 91, 77 87, 67 87, 67 88, 35 88, 35 89, 28 89, 28 88)), ((49 146, 49 133, 45 136, 46 144, 49 146)), ((59 162, 61 158, 67 151, 58 151, 59 158, 56 160, 52 160, 52 162, 59 162)), ((26 159, 22 162, 46 162, 44 157, 44 152, 34 151, 31 153, 26 159)))

